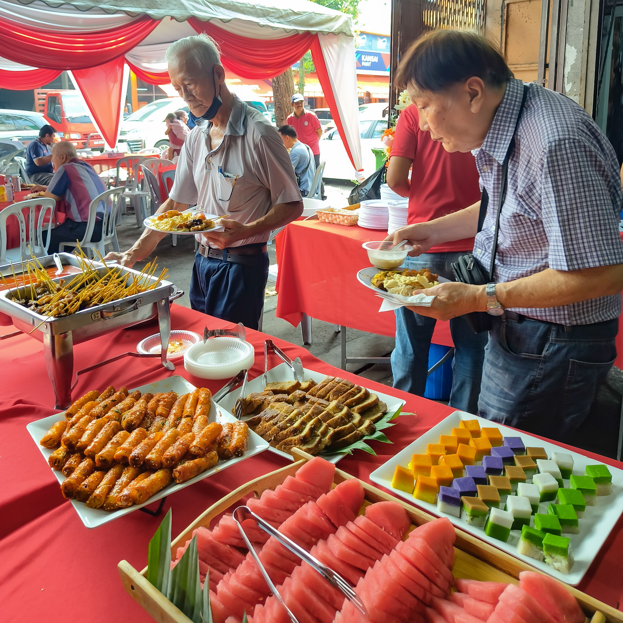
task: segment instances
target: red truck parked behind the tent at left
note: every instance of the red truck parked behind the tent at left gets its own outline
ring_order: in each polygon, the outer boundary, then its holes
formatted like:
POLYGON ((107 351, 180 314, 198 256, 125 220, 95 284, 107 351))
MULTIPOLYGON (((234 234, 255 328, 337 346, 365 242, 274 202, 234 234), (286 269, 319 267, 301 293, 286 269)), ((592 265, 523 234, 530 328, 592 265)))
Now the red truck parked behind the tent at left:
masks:
POLYGON ((57 131, 60 140, 78 149, 103 151, 104 141, 95 130, 87 105, 76 90, 35 89, 35 110, 57 131))

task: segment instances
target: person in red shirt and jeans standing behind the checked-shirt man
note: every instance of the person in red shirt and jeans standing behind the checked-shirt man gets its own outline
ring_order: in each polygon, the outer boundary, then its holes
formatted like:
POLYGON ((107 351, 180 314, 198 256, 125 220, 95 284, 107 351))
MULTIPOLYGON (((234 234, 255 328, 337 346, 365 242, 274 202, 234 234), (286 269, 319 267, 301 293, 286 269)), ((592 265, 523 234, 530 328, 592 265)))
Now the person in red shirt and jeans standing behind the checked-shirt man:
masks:
MULTIPOLYGON (((430 138, 429 132, 422 132, 414 105, 405 108, 398 118, 387 182, 395 193, 409 197, 409 225, 437 219, 480 199, 473 155, 458 151, 449 153, 441 143, 430 138)), ((472 249, 473 238, 446 242, 418 257, 407 257, 404 266, 416 270, 429 268, 454 280, 452 262, 472 249)), ((435 322, 434 318, 421 316, 406 307, 396 310, 396 348, 391 356, 395 388, 424 395, 435 322)), ((477 413, 488 335, 474 333, 464 316, 450 320, 450 331, 455 346, 450 406, 477 413)))

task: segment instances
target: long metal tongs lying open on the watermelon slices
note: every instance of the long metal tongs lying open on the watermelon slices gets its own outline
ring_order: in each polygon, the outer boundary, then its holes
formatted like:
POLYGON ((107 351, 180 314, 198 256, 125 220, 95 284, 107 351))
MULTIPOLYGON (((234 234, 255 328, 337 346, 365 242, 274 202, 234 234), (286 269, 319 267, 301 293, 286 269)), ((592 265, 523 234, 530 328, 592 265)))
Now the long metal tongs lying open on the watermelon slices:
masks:
POLYGON ((273 528, 270 523, 264 521, 260 516, 255 515, 255 513, 250 510, 249 506, 238 506, 238 508, 234 510, 233 516, 235 523, 237 523, 238 525, 238 530, 240 530, 240 535, 242 535, 242 538, 244 539, 247 548, 249 548, 249 552, 251 556, 253 556, 255 563, 259 567, 260 573, 262 573, 262 576, 264 576, 264 579, 269 585, 272 594, 278 599, 278 601, 281 602, 282 606, 286 609, 288 616, 290 617, 290 619, 292 619, 292 623, 298 623, 297 617, 295 617, 292 614, 292 611, 290 611, 290 609, 288 608, 288 606, 283 603, 281 595, 277 591, 275 585, 272 583, 269 574, 266 573, 266 569, 264 569, 264 565, 260 561, 259 556, 257 556, 257 553, 255 553, 255 549, 251 544, 251 541, 249 541, 249 538, 247 537, 247 535, 245 535, 244 529, 242 528, 242 522, 246 519, 254 520, 255 523, 257 523, 257 525, 262 528, 262 530, 264 530, 264 532, 268 533, 270 536, 275 537, 275 539, 277 539, 279 543, 281 543, 285 548, 288 548, 293 554, 297 554, 299 558, 302 558, 303 561, 305 561, 307 564, 313 567, 313 569, 318 571, 318 573, 320 573, 320 575, 323 576, 323 578, 325 578, 328 583, 335 586, 338 591, 341 591, 346 599, 351 601, 353 603, 353 606, 356 607, 356 609, 358 609, 361 614, 366 617, 368 616, 366 606, 364 606, 363 601, 361 601, 356 592, 354 592, 354 588, 350 582, 342 578, 340 574, 333 571, 333 569, 331 569, 330 567, 322 564, 308 551, 305 551, 305 549, 298 546, 294 541, 288 539, 287 536, 282 535, 282 533, 280 533, 277 528, 273 528))

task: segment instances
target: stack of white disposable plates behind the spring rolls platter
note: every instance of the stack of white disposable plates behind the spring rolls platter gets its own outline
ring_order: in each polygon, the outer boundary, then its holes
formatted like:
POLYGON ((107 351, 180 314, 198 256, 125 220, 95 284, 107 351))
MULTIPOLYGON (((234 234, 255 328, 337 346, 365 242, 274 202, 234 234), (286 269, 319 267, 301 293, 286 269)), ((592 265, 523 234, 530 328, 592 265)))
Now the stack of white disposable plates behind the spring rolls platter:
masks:
POLYGON ((184 368, 201 379, 229 379, 254 361, 253 345, 239 338, 201 340, 184 353, 184 368))

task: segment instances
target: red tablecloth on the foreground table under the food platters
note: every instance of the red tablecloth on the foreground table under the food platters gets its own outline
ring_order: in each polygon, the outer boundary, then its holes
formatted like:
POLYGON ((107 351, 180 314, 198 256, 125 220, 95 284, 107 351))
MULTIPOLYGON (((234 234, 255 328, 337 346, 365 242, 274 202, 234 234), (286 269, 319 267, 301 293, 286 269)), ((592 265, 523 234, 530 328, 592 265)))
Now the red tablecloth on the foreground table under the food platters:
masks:
MULTIPOLYGON (((221 320, 173 305, 172 327, 201 333, 210 328, 231 326, 221 320)), ((11 331, 9 328, 6 333, 11 331)), ((118 331, 103 338, 75 346, 77 369, 134 350, 136 343, 157 330, 155 324, 118 331)), ((251 377, 263 371, 263 347, 266 335, 247 330, 247 340, 255 346, 255 365, 251 377)), ((313 357, 307 350, 273 338, 290 357, 300 356, 303 365, 333 376, 361 380, 354 374, 333 368, 313 357)), ((274 362, 275 364, 278 361, 274 362)), ((0 488, 0 603, 2 621, 90 623, 108 621, 148 622, 152 619, 125 594, 117 573, 121 559, 142 569, 147 560, 147 545, 161 517, 153 518, 136 511, 95 530, 85 528, 74 509, 64 500, 56 480, 32 442, 27 422, 52 414, 54 397, 41 352, 33 338, 21 335, 2 342, 0 365, 3 371, 0 402, 0 465, 4 486, 0 488)), ((222 381, 202 381, 186 373, 178 364, 174 374, 207 385, 212 390, 222 381)), ((169 373, 156 361, 121 359, 104 368, 80 376, 74 396, 88 389, 108 384, 128 388, 163 379, 169 373)), ((366 386, 406 401, 405 412, 396 426, 389 429, 392 445, 374 442, 373 457, 363 452, 341 460, 340 468, 368 480, 368 475, 389 457, 403 449, 452 409, 424 398, 366 380, 366 386)), ((600 462, 622 464, 594 457, 600 462)), ((164 512, 173 508, 173 535, 178 535, 212 503, 244 482, 286 464, 285 459, 264 452, 249 459, 244 470, 231 468, 188 487, 167 498, 164 512)), ((623 576, 623 521, 612 532, 581 589, 616 607, 623 601, 623 586, 616 578, 623 576)))

